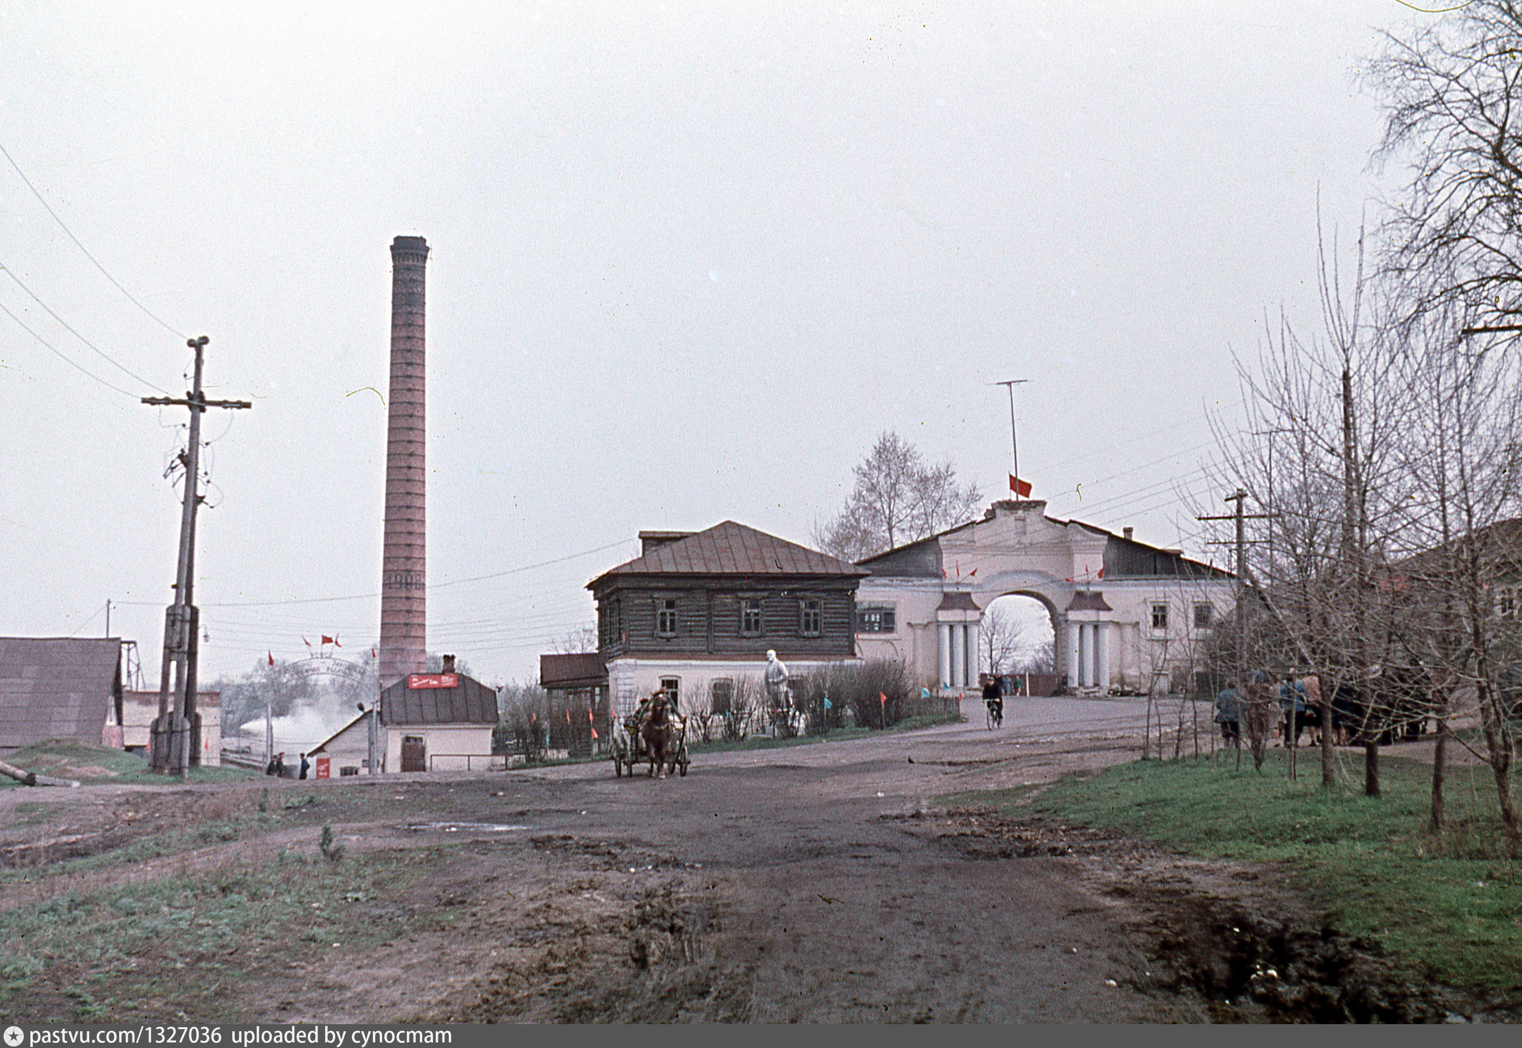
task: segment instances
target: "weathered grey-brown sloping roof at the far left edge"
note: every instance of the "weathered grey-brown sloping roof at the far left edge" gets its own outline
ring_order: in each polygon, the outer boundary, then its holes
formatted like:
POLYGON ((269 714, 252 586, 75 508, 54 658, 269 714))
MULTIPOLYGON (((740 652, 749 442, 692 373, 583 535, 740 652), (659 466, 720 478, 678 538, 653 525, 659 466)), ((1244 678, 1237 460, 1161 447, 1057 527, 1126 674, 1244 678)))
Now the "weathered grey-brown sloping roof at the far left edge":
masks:
POLYGON ((43 739, 100 742, 120 716, 120 637, 0 637, 0 748, 43 739))

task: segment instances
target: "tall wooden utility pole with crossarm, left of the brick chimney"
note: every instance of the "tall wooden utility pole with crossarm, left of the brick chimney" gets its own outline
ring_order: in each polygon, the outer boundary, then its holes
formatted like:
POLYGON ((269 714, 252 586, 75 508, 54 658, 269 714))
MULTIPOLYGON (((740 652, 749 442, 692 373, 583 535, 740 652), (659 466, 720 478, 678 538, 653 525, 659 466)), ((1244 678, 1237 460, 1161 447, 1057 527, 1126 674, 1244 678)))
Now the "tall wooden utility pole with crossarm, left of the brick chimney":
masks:
POLYGON ((184 505, 180 510, 180 560, 175 567, 175 602, 164 613, 164 656, 158 674, 158 716, 149 732, 149 768, 184 779, 190 765, 201 764, 201 715, 196 697, 196 636, 199 611, 190 602, 195 578, 195 511, 201 503, 201 414, 207 408, 253 408, 247 400, 207 400, 201 392, 201 362, 205 335, 186 345, 195 350, 190 392, 178 397, 143 397, 145 405, 180 405, 190 409, 190 440, 181 455, 186 472, 184 505))

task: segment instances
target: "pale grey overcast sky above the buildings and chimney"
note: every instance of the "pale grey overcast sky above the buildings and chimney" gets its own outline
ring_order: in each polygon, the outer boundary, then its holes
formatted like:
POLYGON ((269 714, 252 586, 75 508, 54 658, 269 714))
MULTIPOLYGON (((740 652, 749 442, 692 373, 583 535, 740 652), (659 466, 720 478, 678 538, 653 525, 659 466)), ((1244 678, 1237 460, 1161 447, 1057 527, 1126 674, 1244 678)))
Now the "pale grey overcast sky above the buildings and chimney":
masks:
MULTIPOLYGON (((202 678, 379 631, 390 243, 426 237, 428 637, 528 680, 641 529, 810 545, 896 430, 1192 546, 1207 415, 1315 326, 1399 0, 0 0, 11 636, 157 688, 207 335, 202 678), (88 373, 88 374, 85 374, 88 373)), ((1221 493, 1225 494, 1225 493, 1221 493)), ((1205 493, 1208 497, 1208 493, 1205 493)), ((1225 511, 1225 503, 1219 503, 1225 511)))

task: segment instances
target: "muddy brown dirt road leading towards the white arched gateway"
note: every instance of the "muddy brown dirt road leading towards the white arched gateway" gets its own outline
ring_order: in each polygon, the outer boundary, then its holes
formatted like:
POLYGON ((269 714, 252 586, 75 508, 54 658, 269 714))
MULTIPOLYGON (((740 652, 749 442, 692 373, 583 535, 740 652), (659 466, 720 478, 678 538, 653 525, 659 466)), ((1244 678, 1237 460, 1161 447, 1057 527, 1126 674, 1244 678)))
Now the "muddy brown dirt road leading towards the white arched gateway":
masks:
MULTIPOLYGON (((610 764, 592 764, 277 783, 304 799, 294 824, 257 843, 260 853, 315 852, 315 827, 332 826, 350 853, 428 855, 428 875, 353 904, 350 917, 379 929, 371 945, 250 951, 236 958, 240 977, 189 1018, 1464 1015, 1458 998, 1405 986, 1358 945, 1327 934, 1272 870, 1184 859, 938 800, 1035 791, 1068 771, 1135 757, 1140 732, 1131 719, 1140 706, 1027 703, 1012 704, 997 732, 983 727, 977 707, 968 710, 977 722, 699 754, 686 777, 665 780, 618 779, 610 764), (396 934, 387 934, 393 925, 396 934)), ((58 791, 58 803, 82 805, 76 829, 87 838, 91 818, 108 827, 123 803, 142 827, 204 805, 216 789, 88 786, 58 791)), ((212 870, 247 855, 244 841, 177 862, 212 870)), ((155 1007, 184 1010, 148 1001, 142 1011, 155 1007)))

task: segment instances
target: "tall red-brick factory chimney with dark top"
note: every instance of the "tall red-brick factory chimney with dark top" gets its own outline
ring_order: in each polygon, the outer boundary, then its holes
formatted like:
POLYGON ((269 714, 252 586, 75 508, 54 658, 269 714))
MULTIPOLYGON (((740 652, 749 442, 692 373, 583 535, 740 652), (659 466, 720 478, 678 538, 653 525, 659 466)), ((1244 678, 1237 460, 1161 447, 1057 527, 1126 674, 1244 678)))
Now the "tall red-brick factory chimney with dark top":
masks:
POLYGON ((428 663, 423 508, 423 292, 428 242, 391 242, 391 397, 387 402, 385 552, 380 561, 380 688, 428 663))

